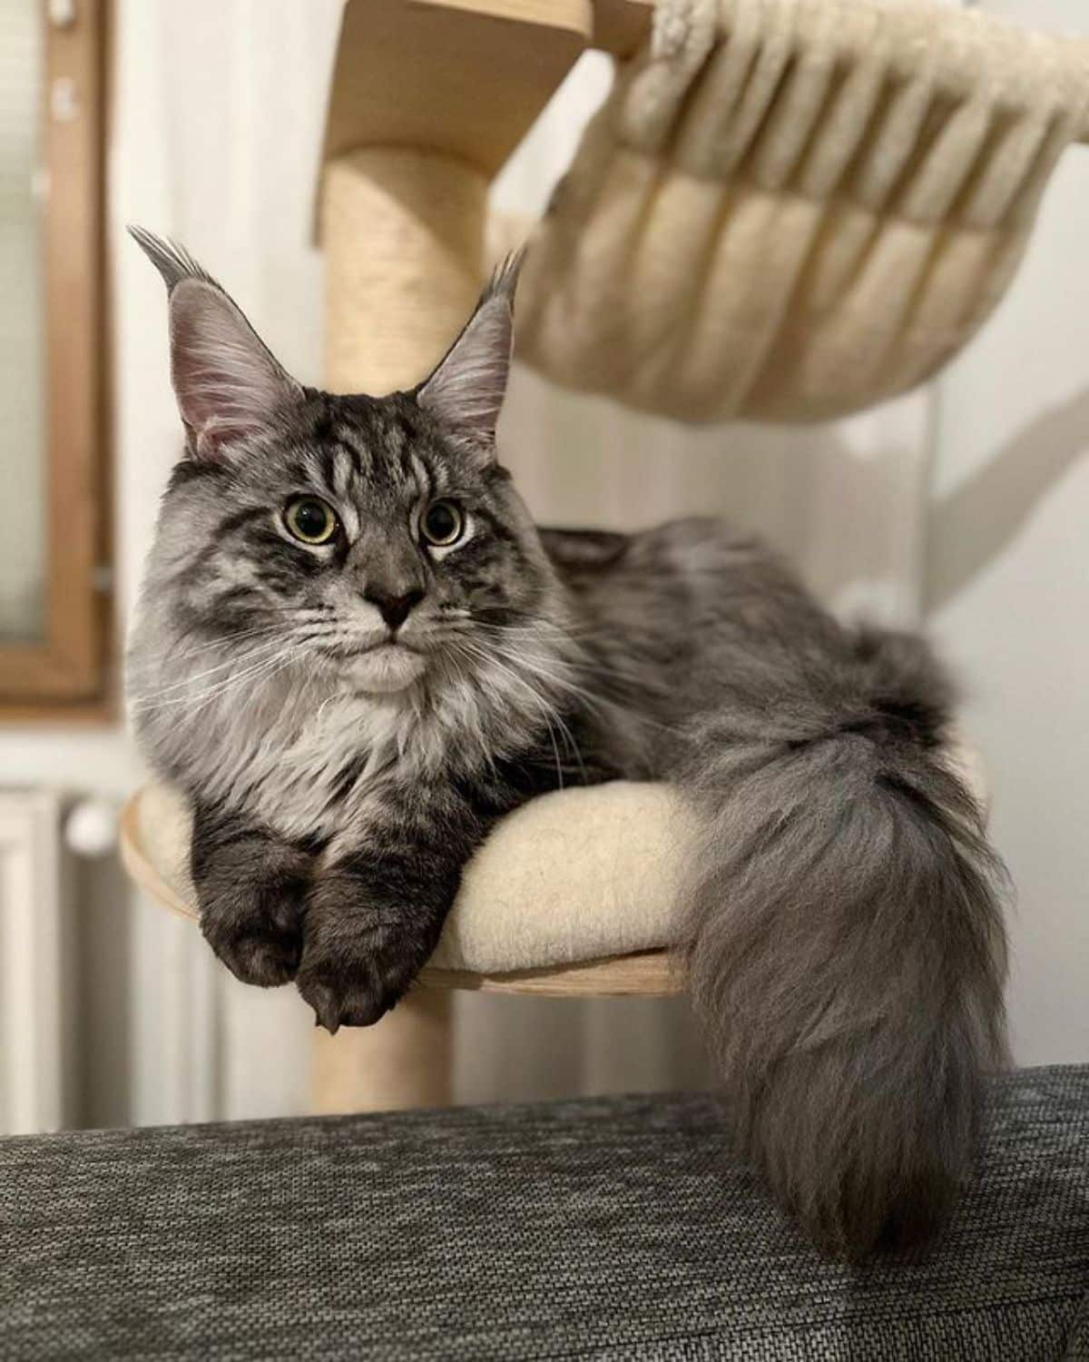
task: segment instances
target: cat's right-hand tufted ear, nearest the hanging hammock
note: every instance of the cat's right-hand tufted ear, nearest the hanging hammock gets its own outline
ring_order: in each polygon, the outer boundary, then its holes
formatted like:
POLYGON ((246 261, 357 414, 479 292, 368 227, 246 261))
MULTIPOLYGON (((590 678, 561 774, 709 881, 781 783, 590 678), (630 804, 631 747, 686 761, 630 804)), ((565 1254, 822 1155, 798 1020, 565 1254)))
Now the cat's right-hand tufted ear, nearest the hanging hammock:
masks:
POLYGON ((504 260, 445 358, 417 390, 417 402, 425 411, 489 458, 494 458, 495 424, 510 375, 515 289, 521 260, 521 252, 504 260))

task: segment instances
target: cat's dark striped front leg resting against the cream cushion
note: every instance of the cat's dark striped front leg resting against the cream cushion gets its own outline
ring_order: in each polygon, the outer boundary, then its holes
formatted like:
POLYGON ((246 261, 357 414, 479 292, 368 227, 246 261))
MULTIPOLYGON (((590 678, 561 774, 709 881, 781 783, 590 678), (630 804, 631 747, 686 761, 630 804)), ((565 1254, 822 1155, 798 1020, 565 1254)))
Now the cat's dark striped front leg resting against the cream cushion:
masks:
POLYGON ((370 1026, 438 943, 483 824, 452 791, 403 791, 329 847, 306 903, 297 983, 321 1026, 370 1026))

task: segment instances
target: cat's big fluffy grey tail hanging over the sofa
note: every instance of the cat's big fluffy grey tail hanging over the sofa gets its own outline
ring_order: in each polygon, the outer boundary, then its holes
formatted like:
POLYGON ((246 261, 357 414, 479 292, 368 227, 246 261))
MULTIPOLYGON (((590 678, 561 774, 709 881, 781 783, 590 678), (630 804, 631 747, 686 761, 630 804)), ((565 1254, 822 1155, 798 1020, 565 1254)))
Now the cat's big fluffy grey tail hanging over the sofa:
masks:
POLYGON ((856 1258, 928 1238, 971 1170, 1006 1060, 1006 881, 923 646, 862 635, 825 691, 704 730, 687 963, 742 1150, 856 1258))

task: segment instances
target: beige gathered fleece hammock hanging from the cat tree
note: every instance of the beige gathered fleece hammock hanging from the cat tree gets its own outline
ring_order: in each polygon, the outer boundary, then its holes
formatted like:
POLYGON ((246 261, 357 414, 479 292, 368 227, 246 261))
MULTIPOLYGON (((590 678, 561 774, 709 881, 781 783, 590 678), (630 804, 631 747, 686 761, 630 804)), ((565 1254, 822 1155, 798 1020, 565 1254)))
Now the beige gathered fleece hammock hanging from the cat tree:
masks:
POLYGON ((663 0, 532 238, 519 354, 682 421, 844 415, 999 301, 1089 44, 922 0, 663 0))

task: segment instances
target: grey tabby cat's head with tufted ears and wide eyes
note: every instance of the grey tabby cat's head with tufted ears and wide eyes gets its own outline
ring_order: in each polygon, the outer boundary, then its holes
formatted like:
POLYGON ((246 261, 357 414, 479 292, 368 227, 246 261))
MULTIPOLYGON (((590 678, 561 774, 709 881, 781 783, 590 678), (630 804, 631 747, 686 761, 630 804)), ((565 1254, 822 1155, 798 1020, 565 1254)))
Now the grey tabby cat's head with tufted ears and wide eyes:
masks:
POLYGON ((184 251, 133 236, 169 289, 186 441, 143 601, 172 648, 290 654, 391 695, 472 673, 547 618, 555 579, 495 458, 516 264, 419 387, 335 396, 290 377, 184 251))

